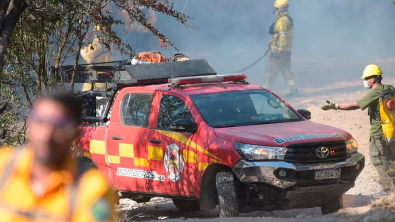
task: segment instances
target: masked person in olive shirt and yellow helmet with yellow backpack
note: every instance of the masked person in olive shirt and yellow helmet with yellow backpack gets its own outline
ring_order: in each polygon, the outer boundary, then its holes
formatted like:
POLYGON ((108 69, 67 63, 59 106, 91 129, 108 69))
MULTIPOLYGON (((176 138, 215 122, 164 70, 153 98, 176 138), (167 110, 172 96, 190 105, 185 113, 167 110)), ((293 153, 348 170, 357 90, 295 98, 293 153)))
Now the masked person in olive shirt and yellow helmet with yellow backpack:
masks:
MULTIPOLYGON (((382 84, 383 72, 379 66, 370 64, 365 67, 361 79, 364 79, 365 88, 372 89, 361 99, 354 103, 337 104, 327 100, 327 104, 321 109, 327 110, 365 110, 370 117, 370 139, 369 139, 369 156, 370 163, 376 167, 379 173, 379 183, 384 192, 389 192, 391 187, 390 176, 388 175, 388 166, 390 161, 395 161, 395 142, 387 144, 384 137, 383 128, 380 118, 380 94, 384 91, 395 93, 392 85, 382 84)), ((394 176, 394 175, 392 175, 394 176)))

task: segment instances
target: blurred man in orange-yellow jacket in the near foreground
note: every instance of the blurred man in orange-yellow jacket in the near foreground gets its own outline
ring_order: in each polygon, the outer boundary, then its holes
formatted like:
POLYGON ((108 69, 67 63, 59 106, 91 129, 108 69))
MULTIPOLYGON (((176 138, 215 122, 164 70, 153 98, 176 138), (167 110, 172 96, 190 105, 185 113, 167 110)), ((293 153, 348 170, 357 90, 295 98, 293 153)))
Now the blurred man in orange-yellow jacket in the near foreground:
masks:
POLYGON ((70 156, 81 102, 43 95, 29 115, 29 147, 0 150, 0 221, 112 221, 116 195, 92 166, 70 156))

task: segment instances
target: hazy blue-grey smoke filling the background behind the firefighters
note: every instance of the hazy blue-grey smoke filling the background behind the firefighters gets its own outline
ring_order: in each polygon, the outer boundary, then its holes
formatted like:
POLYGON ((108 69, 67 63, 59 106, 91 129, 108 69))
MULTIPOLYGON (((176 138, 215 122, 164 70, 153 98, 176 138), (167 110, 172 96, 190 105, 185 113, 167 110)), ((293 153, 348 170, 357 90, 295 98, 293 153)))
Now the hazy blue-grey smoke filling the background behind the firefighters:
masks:
MULTIPOLYGON (((268 29, 275 20, 274 0, 174 0, 195 29, 156 13, 154 24, 180 52, 206 58, 217 73, 241 70, 267 49, 268 29), (186 5, 185 5, 186 3, 186 5)), ((310 84, 358 80, 367 64, 376 63, 385 78, 395 69, 395 5, 390 0, 289 0, 294 21, 292 69, 303 90, 310 84)), ((120 36, 133 45, 122 28, 120 36), (123 33, 122 33, 123 32, 123 33)), ((151 37, 149 50, 172 56, 151 37)), ((250 83, 262 84, 266 56, 246 70, 250 83)), ((124 58, 124 56, 122 57, 124 58)), ((385 79, 384 78, 384 79, 385 79)), ((278 75, 273 90, 288 90, 278 75)))

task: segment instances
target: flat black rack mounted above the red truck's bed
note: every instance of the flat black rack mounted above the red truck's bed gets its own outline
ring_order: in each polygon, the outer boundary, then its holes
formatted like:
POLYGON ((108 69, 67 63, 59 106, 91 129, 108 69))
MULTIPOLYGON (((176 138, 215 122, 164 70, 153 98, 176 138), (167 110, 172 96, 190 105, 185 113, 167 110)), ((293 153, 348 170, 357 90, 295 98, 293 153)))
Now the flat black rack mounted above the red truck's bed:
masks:
MULTIPOLYGON (((70 83, 73 66, 62 67, 65 83, 70 83)), ((169 78, 215 75, 206 59, 117 66, 78 66, 74 83, 124 83, 144 85, 167 83, 169 78)), ((60 81, 60 78, 58 79, 60 81)))

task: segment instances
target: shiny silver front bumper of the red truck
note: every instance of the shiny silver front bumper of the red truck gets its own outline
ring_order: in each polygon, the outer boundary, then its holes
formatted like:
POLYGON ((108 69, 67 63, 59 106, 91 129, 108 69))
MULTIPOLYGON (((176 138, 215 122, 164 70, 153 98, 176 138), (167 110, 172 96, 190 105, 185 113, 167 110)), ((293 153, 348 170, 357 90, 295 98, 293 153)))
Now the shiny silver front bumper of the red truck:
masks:
MULTIPOLYGON (((274 187, 284 189, 296 184, 300 185, 299 182, 302 182, 303 180, 301 179, 298 181, 298 178, 281 178, 276 174, 279 169, 284 169, 287 172, 294 173, 295 175, 298 173, 307 175, 307 180, 314 181, 314 177, 311 176, 310 178, 309 173, 313 175, 313 171, 315 169, 342 168, 343 174, 343 168, 351 168, 354 174, 351 176, 351 178, 353 178, 353 184, 355 177, 361 172, 364 166, 365 156, 360 153, 356 153, 351 155, 343 162, 309 165, 287 163, 284 161, 250 162, 246 160, 240 160, 232 170, 243 183, 266 183, 274 187)), ((305 180, 306 179, 304 179, 304 181, 305 180)))

